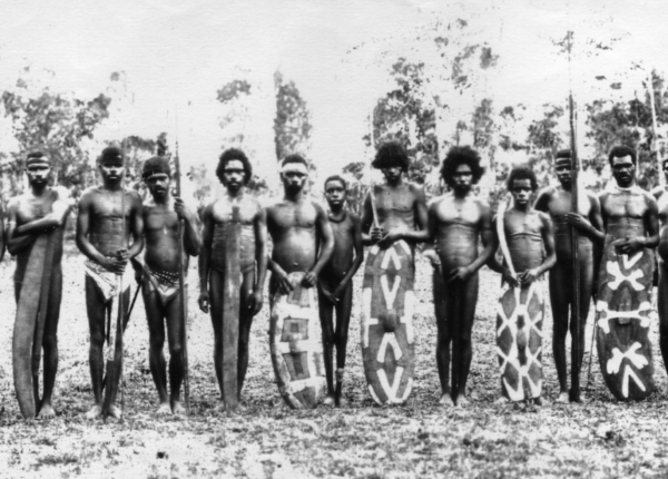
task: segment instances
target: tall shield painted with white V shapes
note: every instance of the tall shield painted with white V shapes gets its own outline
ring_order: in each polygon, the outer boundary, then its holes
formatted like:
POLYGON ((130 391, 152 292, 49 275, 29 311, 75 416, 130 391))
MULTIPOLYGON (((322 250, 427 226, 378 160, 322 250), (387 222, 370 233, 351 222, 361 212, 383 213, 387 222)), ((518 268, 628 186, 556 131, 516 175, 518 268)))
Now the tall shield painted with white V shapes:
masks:
POLYGON ((404 241, 370 248, 362 290, 362 359, 379 404, 401 404, 413 389, 413 254, 404 241))

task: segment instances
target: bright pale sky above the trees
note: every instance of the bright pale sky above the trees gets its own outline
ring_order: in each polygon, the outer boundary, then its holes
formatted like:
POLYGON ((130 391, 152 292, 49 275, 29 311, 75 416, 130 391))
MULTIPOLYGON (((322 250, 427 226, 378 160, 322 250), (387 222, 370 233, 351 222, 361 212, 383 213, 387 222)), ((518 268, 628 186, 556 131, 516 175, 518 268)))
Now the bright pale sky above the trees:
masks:
MULTIPOLYGON (((540 106, 568 95, 568 68, 554 53, 550 37, 571 28, 576 39, 591 36, 621 40, 596 58, 579 56, 573 85, 580 102, 610 95, 612 81, 641 90, 645 74, 629 77, 631 60, 668 71, 662 39, 668 2, 475 0, 433 1, 214 1, 115 0, 112 2, 0 0, 6 20, 0 29, 0 89, 19 71, 48 68, 53 90, 92 97, 109 86, 112 71, 125 71, 128 100, 112 105, 99 139, 122 135, 176 134, 185 164, 213 165, 220 153, 218 126, 224 107, 216 90, 239 77, 258 88, 248 135, 256 164, 274 176, 272 121, 273 74, 293 79, 313 113, 312 158, 322 174, 352 160, 369 160, 362 136, 366 116, 389 88, 379 55, 390 48, 418 49, 405 38, 436 16, 471 19, 472 30, 490 41, 500 65, 482 90, 461 98, 464 111, 485 96, 499 108, 523 102, 540 106), (346 55, 365 43, 361 53, 346 55), (606 75, 597 82, 593 75, 606 75), (597 90, 598 89, 598 90, 597 90)), ((419 53, 418 53, 419 55, 419 53)), ((0 139, 0 146, 8 145, 0 139)))

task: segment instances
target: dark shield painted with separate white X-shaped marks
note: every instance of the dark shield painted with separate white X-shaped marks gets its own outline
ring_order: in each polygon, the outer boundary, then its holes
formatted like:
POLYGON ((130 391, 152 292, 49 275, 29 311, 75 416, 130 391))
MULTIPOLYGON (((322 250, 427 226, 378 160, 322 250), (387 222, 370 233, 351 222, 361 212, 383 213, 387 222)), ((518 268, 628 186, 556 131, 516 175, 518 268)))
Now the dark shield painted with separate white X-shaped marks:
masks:
POLYGON ((618 255, 615 242, 606 242, 596 336, 603 379, 619 400, 645 399, 655 388, 649 340, 652 256, 649 250, 618 255))

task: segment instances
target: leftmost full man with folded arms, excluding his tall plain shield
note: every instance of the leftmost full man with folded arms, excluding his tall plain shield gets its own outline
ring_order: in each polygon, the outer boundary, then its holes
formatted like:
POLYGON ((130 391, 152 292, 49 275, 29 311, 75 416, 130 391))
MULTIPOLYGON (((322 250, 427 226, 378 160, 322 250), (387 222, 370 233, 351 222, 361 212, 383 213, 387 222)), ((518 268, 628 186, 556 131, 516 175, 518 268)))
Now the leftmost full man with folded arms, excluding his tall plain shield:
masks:
MULTIPOLYGON (((56 372, 58 370, 58 320, 60 317, 60 300, 62 297, 62 238, 70 212, 70 204, 67 201, 67 190, 52 188, 49 186, 51 177, 51 167, 49 159, 42 151, 32 151, 28 155, 26 162, 26 173, 30 190, 21 196, 12 198, 9 203, 9 223, 7 229, 9 253, 17 256, 17 271, 14 273, 14 295, 17 304, 21 297, 23 278, 27 276, 27 267, 31 254, 39 254, 35 251, 36 241, 39 236, 53 233, 53 256, 50 264, 50 286, 48 286, 48 310, 43 324, 43 336, 41 345, 43 348, 43 394, 39 400, 39 381, 37 373, 39 363, 32 364, 33 375, 33 398, 36 412, 39 418, 52 418, 56 412, 52 407, 51 395, 56 382, 56 372)), ((45 246, 42 246, 45 247, 45 246)), ((4 246, 2 246, 2 252, 4 246)), ((45 253, 42 252, 42 255, 45 253)), ((43 261, 43 260, 42 260, 43 261)), ((41 265, 40 265, 41 266, 41 265)), ((43 277, 43 276, 42 276, 43 277)), ((35 284, 28 284, 28 289, 35 287, 35 284)), ((42 290, 43 291, 43 290, 42 290)), ((39 301, 41 303, 41 301, 39 301)), ((36 305, 37 306, 37 305, 36 305)), ((37 311, 35 311, 37 314, 37 311)), ((19 317, 17 311, 17 321, 26 320, 19 317)), ((14 328, 20 328, 17 324, 14 328)), ((33 346, 35 348, 35 346, 33 346)))

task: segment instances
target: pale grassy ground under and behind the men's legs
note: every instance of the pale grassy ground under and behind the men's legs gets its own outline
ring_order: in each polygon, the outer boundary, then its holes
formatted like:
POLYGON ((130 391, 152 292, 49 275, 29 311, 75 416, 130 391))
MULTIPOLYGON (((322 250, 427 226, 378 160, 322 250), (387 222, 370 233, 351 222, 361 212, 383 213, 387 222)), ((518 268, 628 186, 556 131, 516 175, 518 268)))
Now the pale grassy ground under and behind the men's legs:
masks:
MULTIPOLYGON (((361 364, 360 277, 348 344, 345 397, 350 405, 332 410, 274 408, 278 399, 269 360, 268 311, 256 317, 252 360, 244 391, 247 410, 224 417, 213 412, 217 388, 213 373, 209 317, 191 295, 188 350, 191 414, 157 419, 157 394, 148 370, 148 332, 141 300, 126 336, 125 402, 121 422, 85 422, 78 414, 91 402, 88 326, 82 258, 66 258, 60 321, 60 369, 56 387, 58 418, 23 421, 11 378, 14 303, 13 264, 0 270, 0 477, 239 476, 297 477, 635 477, 665 476, 668 466, 666 372, 652 326, 658 393, 650 400, 619 403, 607 392, 593 358, 589 401, 577 405, 494 405, 500 385, 494 354, 498 276, 484 271, 474 325, 470 377, 471 408, 438 405, 434 361, 435 324, 431 266, 420 260, 416 281, 418 366, 412 399, 405 407, 379 408, 369 398, 361 364)), ((190 281, 196 278, 190 272, 190 281)), ((544 286, 546 283, 543 283, 544 286)), ((548 311, 543 354, 544 394, 558 392, 548 311)), ((591 328, 587 332, 587 349, 591 328)), ((589 352, 586 354, 586 363, 589 352)), ((583 382, 586 380, 586 374, 583 382)))

